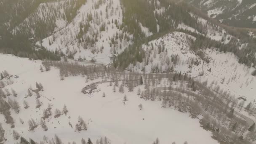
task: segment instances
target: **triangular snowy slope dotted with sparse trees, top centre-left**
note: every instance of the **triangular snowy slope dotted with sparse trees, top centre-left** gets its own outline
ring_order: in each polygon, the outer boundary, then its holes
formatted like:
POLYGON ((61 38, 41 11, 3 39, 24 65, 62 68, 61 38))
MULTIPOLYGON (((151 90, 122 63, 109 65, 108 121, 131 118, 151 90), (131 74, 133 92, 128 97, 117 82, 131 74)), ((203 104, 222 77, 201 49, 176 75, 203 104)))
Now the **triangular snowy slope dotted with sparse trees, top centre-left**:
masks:
POLYGON ((122 9, 119 0, 88 0, 67 27, 37 42, 51 51, 62 51, 74 58, 96 59, 108 64, 114 53, 120 53, 129 40, 119 29, 122 9))

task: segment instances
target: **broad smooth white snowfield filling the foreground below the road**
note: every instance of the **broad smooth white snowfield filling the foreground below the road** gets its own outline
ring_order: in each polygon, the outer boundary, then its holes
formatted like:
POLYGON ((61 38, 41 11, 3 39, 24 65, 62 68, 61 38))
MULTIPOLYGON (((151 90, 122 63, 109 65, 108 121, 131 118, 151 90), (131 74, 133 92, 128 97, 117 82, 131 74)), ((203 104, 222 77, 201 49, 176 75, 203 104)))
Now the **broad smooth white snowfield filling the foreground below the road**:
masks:
MULTIPOLYGON (((191 119, 187 113, 161 108, 160 101, 145 101, 140 99, 136 92, 128 92, 125 88, 128 101, 124 105, 125 94, 113 93, 109 83, 99 84, 99 92, 86 95, 81 93, 85 85, 102 81, 101 79, 85 82, 85 78, 76 76, 59 80, 59 70, 56 68, 51 68, 48 72, 40 72, 41 61, 29 61, 2 54, 0 60, 1 70, 19 76, 19 78, 11 77, 13 83, 5 86, 9 90, 13 88, 17 96, 10 95, 4 100, 16 100, 20 104, 18 114, 11 110, 15 128, 10 128, 11 125, 6 124, 5 118, 0 115, 0 121, 5 129, 6 144, 19 142, 13 140, 13 130, 25 139, 32 138, 38 142, 43 141, 43 136, 49 141, 57 134, 64 144, 68 141, 75 141, 78 144, 82 138, 86 140, 90 138, 94 143, 96 139, 105 136, 111 144, 150 144, 157 137, 161 144, 169 144, 173 141, 177 144, 184 141, 191 144, 217 144, 217 141, 211 138, 209 131, 200 128, 199 120, 191 119), (37 95, 34 92, 31 97, 25 98, 28 88, 35 89, 36 82, 41 83, 44 89, 39 92, 38 99, 42 104, 40 108, 36 108, 37 95), (103 92, 106 97, 102 97, 103 92), (29 104, 27 109, 22 106, 24 100, 29 104), (43 131, 40 125, 34 131, 28 131, 27 121, 33 118, 40 124, 43 110, 48 108, 48 104, 51 105, 53 113, 55 109, 62 109, 66 105, 67 115, 63 114, 57 118, 50 116, 45 119, 48 131, 43 131), (139 110, 139 104, 143 105, 142 110, 139 110), (75 132, 75 124, 79 116, 86 122, 87 131, 75 132), (19 119, 24 123, 21 124, 19 119)), ((141 90, 143 87, 140 86, 141 90)))

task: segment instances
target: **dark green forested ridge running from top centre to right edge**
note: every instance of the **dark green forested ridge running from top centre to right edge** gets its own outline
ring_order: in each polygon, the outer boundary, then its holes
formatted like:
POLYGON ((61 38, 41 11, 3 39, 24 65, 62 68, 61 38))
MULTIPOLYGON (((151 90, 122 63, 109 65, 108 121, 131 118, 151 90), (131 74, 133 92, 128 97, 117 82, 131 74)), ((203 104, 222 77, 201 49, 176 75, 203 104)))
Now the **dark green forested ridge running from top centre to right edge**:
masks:
POLYGON ((196 53, 200 51, 201 48, 216 47, 219 48, 219 51, 234 53, 239 57, 239 63, 246 64, 248 67, 251 67, 253 64, 253 67, 255 67, 256 59, 254 54, 256 52, 256 42, 255 39, 248 36, 247 31, 221 25, 218 21, 208 18, 197 8, 191 7, 186 3, 176 4, 167 2, 166 0, 159 0, 160 3, 157 3, 156 0, 135 1, 134 3, 136 4, 128 3, 128 0, 122 0, 124 7, 123 22, 124 24, 126 22, 126 25, 128 26, 131 26, 129 24, 132 23, 132 27, 128 27, 127 29, 128 32, 133 34, 134 43, 133 45, 128 46, 128 49, 123 51, 123 53, 120 53, 114 59, 114 67, 125 69, 129 64, 135 64, 136 61, 141 62, 142 59, 145 58, 144 51, 141 49, 141 45, 143 43, 147 43, 149 40, 177 30, 196 37, 196 40, 191 45, 191 48, 196 53), (139 8, 136 9, 136 7, 139 8), (152 12, 150 12, 150 10, 152 12), (157 13, 157 11, 161 12, 157 13), (148 13, 148 15, 144 16, 144 13, 148 13), (195 13, 196 16, 193 17, 190 13, 195 13), (199 21, 199 17, 206 19, 207 23, 203 24, 199 21), (136 21, 134 19, 137 20, 137 23, 132 22, 136 21), (139 22, 149 27, 149 29, 152 30, 153 35, 145 37, 143 32, 141 32, 139 22), (208 27, 213 27, 216 32, 221 29, 225 29, 227 33, 233 37, 229 37, 229 39, 231 39, 229 40, 229 43, 223 43, 224 40, 216 41, 206 37, 206 35, 200 35, 195 32, 178 29, 177 27, 180 23, 184 23, 189 27, 195 28, 202 34, 207 33, 208 27), (159 29, 155 31, 155 27, 159 27, 159 29), (241 43, 248 43, 248 45, 245 49, 241 50, 239 48, 241 43))

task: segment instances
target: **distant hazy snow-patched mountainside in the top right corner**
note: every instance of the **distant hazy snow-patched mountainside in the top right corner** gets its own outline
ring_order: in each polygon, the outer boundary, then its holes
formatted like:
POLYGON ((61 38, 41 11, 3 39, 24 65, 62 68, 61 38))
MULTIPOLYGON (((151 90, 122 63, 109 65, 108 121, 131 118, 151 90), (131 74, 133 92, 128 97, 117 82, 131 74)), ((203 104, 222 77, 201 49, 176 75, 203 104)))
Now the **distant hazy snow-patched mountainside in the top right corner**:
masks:
POLYGON ((209 17, 235 27, 256 28, 255 0, 185 0, 209 17))

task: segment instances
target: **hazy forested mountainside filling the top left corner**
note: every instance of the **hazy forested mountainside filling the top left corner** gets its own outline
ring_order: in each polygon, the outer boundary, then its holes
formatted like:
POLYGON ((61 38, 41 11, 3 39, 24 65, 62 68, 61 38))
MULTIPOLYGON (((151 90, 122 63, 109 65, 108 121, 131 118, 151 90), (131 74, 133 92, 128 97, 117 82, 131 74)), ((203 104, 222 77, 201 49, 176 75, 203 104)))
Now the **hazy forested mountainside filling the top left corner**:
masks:
POLYGON ((0 52, 29 59, 60 60, 60 55, 33 43, 53 34, 55 20, 70 23, 86 0, 4 0, 0 3, 0 52), (56 4, 55 4, 56 3, 56 4), (45 7, 45 5, 47 7, 45 7), (38 8, 48 11, 40 14, 38 8), (59 10, 63 8, 64 13, 59 10), (33 22, 31 22, 33 21, 33 22), (16 28, 20 26, 19 28, 16 28))

